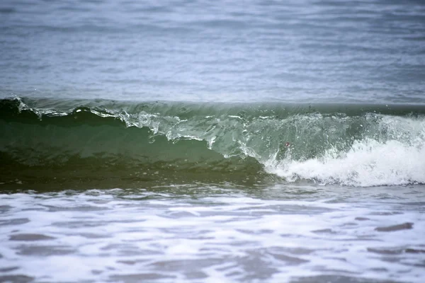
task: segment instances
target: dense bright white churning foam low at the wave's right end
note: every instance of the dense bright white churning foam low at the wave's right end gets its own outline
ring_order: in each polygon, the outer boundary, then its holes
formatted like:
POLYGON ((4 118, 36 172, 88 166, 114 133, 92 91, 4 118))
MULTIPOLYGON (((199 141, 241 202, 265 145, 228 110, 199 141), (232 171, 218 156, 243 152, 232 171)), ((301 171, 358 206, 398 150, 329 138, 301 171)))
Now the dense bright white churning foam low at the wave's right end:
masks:
POLYGON ((300 179, 321 184, 351 186, 407 185, 425 183, 424 143, 380 142, 374 139, 355 141, 346 153, 328 150, 322 157, 306 161, 290 158, 272 162, 268 171, 290 182, 300 179))

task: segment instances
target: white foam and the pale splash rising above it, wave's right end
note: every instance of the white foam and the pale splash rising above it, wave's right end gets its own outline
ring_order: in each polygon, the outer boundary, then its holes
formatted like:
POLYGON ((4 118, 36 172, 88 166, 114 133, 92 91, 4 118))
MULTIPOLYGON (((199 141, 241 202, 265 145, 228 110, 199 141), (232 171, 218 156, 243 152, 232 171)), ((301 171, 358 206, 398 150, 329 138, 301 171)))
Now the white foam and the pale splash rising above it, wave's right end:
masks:
POLYGON ((350 149, 332 147, 315 158, 294 160, 288 151, 283 160, 270 158, 266 169, 289 182, 349 186, 408 185, 425 183, 424 117, 373 115, 363 139, 350 149))

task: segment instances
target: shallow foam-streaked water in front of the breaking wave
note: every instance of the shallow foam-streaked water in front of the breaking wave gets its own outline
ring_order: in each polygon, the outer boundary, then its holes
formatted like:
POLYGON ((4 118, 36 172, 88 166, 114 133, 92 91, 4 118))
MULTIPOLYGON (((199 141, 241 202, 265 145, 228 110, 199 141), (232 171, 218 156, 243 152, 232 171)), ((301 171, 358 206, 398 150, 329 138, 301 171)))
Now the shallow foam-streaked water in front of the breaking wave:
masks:
POLYGON ((424 279, 423 186, 181 185, 0 200, 0 281, 424 279), (403 223, 413 229, 376 230, 403 223))

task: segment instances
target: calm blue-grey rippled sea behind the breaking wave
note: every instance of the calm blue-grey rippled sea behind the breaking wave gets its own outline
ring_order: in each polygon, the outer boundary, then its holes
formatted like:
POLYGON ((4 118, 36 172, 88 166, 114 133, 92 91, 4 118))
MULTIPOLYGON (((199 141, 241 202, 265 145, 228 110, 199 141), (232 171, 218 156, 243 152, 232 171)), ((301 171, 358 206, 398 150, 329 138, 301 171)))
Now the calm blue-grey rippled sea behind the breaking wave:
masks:
POLYGON ((423 1, 0 4, 3 96, 424 103, 423 1))

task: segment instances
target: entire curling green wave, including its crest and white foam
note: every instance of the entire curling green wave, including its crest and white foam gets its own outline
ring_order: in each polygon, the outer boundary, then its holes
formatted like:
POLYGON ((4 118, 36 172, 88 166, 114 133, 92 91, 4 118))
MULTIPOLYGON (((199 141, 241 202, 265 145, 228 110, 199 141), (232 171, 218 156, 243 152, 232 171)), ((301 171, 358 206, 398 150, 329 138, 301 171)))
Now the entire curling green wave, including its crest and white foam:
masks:
POLYGON ((0 101, 2 183, 425 183, 425 106, 0 101))

